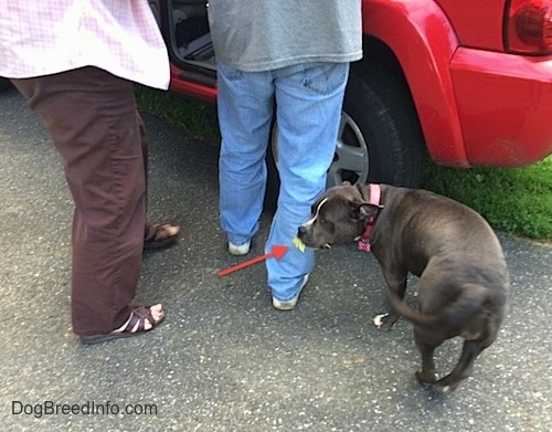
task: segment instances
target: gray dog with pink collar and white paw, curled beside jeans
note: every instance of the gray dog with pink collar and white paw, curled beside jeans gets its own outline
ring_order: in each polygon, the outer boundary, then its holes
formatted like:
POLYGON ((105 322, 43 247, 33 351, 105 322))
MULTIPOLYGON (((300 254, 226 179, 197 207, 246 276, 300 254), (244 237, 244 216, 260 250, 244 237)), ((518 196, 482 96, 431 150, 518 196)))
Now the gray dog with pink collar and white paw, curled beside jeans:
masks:
POLYGON ((420 382, 455 390, 497 338, 509 297, 508 268, 491 228, 468 207, 420 189, 346 182, 319 197, 298 238, 312 249, 359 239, 371 249, 392 305, 374 323, 389 329, 402 315, 414 324, 420 382), (420 277, 420 312, 403 302, 408 272, 420 277), (437 380, 434 350, 456 336, 465 339, 460 359, 437 380))

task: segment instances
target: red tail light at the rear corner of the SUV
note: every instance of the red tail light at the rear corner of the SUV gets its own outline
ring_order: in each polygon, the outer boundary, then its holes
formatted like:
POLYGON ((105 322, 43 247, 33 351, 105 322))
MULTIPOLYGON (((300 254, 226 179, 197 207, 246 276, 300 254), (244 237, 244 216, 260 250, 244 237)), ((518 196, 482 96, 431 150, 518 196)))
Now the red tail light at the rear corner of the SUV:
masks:
POLYGON ((509 0, 505 43, 512 53, 552 54, 552 0, 509 0))

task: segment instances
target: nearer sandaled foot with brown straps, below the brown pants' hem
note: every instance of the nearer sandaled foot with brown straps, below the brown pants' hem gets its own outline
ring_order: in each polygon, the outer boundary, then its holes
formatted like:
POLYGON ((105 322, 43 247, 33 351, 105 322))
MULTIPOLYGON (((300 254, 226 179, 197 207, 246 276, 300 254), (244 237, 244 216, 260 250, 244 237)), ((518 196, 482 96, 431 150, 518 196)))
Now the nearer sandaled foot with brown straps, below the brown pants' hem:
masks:
POLYGON ((135 307, 127 322, 106 335, 81 336, 83 344, 99 344, 123 337, 138 336, 157 327, 164 318, 163 306, 135 307))

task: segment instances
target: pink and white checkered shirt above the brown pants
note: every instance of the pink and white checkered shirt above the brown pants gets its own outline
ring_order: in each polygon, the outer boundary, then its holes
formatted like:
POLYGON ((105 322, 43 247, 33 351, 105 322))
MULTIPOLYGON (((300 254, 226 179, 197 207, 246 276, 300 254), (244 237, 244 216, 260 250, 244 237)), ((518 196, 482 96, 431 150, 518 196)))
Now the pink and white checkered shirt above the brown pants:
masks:
POLYGON ((0 76, 97 66, 157 88, 169 59, 147 0, 10 0, 0 10, 0 76))

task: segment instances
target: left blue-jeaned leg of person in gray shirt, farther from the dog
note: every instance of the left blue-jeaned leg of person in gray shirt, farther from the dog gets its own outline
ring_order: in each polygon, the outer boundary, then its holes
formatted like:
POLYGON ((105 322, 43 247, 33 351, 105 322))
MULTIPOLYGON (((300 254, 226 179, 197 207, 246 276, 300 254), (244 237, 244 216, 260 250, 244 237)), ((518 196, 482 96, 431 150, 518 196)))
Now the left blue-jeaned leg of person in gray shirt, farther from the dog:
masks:
POLYGON ((240 246, 257 232, 263 211, 274 91, 269 73, 243 73, 220 63, 217 76, 221 225, 229 242, 240 246))

